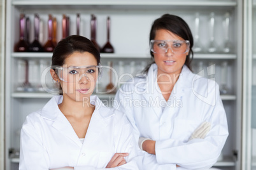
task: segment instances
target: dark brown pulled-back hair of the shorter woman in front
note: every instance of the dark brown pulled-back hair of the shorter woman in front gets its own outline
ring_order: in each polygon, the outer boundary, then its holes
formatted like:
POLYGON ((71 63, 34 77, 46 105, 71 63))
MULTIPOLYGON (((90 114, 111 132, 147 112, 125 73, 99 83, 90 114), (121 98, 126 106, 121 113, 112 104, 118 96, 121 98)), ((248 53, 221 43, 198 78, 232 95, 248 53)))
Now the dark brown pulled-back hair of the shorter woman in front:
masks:
MULTIPOLYGON (((58 42, 57 46, 53 50, 52 66, 64 65, 66 58, 68 58, 69 55, 75 52, 91 53, 96 58, 97 65, 99 65, 101 61, 99 50, 89 39, 83 36, 73 35, 68 36, 58 42)), ((62 91, 61 87, 60 90, 62 91)), ((62 95, 62 92, 60 93, 60 95, 62 95)))

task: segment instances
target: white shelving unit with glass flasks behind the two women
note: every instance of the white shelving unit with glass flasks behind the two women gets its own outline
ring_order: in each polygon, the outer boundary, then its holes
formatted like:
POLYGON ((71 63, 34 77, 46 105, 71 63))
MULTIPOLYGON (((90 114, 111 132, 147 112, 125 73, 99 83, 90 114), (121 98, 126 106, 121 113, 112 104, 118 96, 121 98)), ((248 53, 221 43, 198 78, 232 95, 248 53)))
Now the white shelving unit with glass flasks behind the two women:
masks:
MULTIPOLYGON (((172 13, 179 15, 190 25, 192 32, 194 31, 194 14, 199 11, 202 19, 202 28, 208 26, 208 16, 210 12, 216 13, 217 45, 222 46, 222 18, 225 12, 231 13, 231 41, 234 44, 236 51, 231 54, 224 53, 202 53, 194 54, 194 62, 215 62, 217 65, 223 61, 229 63, 229 86, 232 93, 222 95, 224 107, 227 112, 229 123, 229 138, 225 144, 223 154, 224 159, 218 161, 215 167, 222 169, 240 169, 241 164, 241 58, 242 58, 242 6, 241 0, 227 1, 209 1, 209 0, 181 0, 181 1, 153 1, 153 0, 130 0, 130 1, 57 1, 57 0, 13 0, 6 2, 6 27, 11 28, 6 30, 6 170, 14 170, 18 167, 18 158, 10 158, 8 150, 14 148, 19 149, 19 136, 22 123, 25 116, 34 110, 43 107, 45 103, 53 96, 48 93, 17 93, 15 91, 15 80, 17 74, 13 66, 17 60, 50 60, 52 53, 15 53, 13 51, 14 44, 18 41, 18 20, 20 13, 25 13, 29 16, 31 22, 34 18, 34 13, 38 13, 41 19, 46 23, 48 13, 56 16, 58 21, 57 39, 61 37, 60 20, 62 14, 69 15, 71 18, 71 34, 75 33, 76 13, 80 13, 82 18, 82 36, 90 37, 90 14, 97 16, 97 42, 103 46, 106 42, 106 16, 111 17, 111 44, 115 48, 113 54, 101 54, 102 63, 113 61, 115 64, 120 60, 124 60, 125 64, 135 61, 149 61, 150 54, 148 49, 148 37, 150 27, 159 16, 164 13, 172 13), (237 157, 234 155, 236 153, 237 157)), ((32 22, 33 23, 33 22, 32 22)), ((46 41, 46 24, 44 28, 44 39, 46 41)), ((32 29, 32 27, 31 27, 32 29)), ((33 39, 33 30, 31 30, 31 41, 33 39)), ((208 29, 201 30, 202 44, 208 42, 208 29)), ((207 65, 205 66, 207 67, 207 65)), ((126 67, 125 67, 126 68, 126 67)), ((219 72, 219 67, 217 67, 219 72)), ((129 72, 129 70, 126 71, 129 72)), ((218 74, 216 74, 218 76, 218 74)), ((216 77, 218 82, 218 77, 216 77)), ((108 83, 108 81, 103 82, 108 83)), ((103 84, 104 86, 105 84, 103 84)), ((103 100, 114 98, 115 95, 98 95, 103 100)))

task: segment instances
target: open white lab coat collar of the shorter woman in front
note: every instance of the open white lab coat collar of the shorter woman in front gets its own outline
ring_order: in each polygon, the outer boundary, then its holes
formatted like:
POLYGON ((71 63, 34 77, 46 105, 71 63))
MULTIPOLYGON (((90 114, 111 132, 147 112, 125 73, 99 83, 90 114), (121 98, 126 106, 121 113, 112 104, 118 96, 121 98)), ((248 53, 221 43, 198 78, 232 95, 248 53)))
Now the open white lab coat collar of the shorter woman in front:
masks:
MULTIPOLYGON (((69 123, 68 119, 60 112, 59 103, 63 100, 63 96, 53 96, 53 98, 46 103, 41 112, 41 117, 50 119, 53 121, 52 126, 67 136, 70 140, 74 141, 79 147, 82 147, 82 142, 76 135, 73 127, 69 123)), ((108 124, 106 118, 112 116, 114 112, 104 106, 97 96, 90 96, 90 103, 96 105, 94 113, 90 119, 90 124, 87 129, 87 134, 83 143, 92 143, 96 140, 97 136, 101 134, 102 129, 108 124), (111 112, 112 111, 112 112, 111 112), (90 130, 93 129, 93 130, 90 130)))

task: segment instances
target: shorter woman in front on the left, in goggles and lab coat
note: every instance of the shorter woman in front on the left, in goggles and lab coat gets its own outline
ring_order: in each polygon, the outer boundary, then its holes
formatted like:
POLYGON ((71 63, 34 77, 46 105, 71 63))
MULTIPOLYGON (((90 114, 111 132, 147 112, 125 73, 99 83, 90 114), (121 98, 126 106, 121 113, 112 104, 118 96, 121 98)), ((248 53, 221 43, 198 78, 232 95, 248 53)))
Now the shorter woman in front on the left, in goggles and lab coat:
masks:
POLYGON ((27 116, 19 169, 141 169, 141 151, 125 115, 92 96, 99 62, 99 51, 85 37, 57 44, 50 74, 61 95, 27 116))

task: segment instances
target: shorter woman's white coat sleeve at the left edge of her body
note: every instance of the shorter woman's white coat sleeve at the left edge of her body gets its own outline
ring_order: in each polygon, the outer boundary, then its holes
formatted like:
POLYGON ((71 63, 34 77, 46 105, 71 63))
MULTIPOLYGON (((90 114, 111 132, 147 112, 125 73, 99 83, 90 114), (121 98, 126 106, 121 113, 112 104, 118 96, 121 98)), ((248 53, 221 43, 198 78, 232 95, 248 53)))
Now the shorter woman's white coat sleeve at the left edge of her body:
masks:
POLYGON ((27 117, 20 133, 20 170, 49 169, 50 160, 42 141, 39 126, 27 117))

